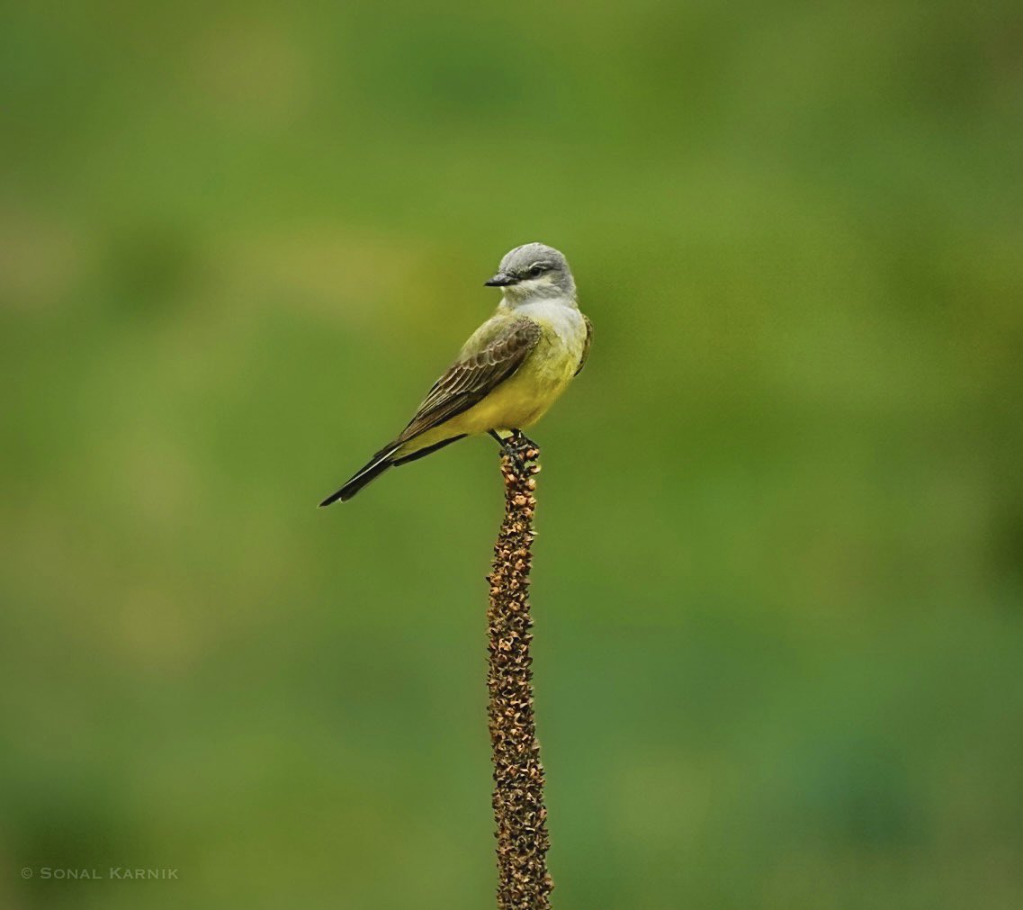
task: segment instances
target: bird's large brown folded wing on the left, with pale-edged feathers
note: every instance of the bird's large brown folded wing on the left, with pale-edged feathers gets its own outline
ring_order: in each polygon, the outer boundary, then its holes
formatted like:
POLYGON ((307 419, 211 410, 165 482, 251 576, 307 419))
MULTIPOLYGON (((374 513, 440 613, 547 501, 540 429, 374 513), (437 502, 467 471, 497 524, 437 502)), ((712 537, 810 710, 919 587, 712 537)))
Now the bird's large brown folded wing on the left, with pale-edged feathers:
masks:
POLYGON ((398 437, 406 442, 482 401, 523 364, 540 340, 540 327, 522 316, 502 326, 486 345, 454 363, 430 390, 398 437))

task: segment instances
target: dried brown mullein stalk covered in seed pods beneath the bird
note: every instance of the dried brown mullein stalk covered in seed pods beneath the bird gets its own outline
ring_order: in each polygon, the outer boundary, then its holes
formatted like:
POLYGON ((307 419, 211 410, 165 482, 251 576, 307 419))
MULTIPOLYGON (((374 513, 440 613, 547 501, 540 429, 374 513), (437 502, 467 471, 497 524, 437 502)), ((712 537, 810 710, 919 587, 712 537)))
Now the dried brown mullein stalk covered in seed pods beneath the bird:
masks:
POLYGON ((498 910, 546 910, 553 881, 547 874, 547 810, 543 767, 533 718, 529 645, 529 570, 532 563, 533 475, 539 450, 518 435, 505 443, 504 521, 494 546, 487 610, 490 651, 490 741, 497 823, 498 910))

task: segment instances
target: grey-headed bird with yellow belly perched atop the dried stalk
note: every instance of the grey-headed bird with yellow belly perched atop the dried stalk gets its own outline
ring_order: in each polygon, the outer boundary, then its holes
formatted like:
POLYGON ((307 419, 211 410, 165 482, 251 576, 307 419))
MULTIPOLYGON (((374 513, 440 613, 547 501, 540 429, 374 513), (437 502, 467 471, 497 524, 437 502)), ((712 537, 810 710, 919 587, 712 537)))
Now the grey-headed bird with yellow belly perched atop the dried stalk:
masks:
POLYGON ((412 419, 320 507, 346 502, 390 468, 487 433, 502 446, 535 424, 579 375, 593 327, 579 310, 564 254, 516 247, 484 285, 500 288, 497 310, 462 346, 412 419))

